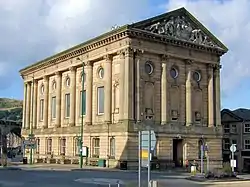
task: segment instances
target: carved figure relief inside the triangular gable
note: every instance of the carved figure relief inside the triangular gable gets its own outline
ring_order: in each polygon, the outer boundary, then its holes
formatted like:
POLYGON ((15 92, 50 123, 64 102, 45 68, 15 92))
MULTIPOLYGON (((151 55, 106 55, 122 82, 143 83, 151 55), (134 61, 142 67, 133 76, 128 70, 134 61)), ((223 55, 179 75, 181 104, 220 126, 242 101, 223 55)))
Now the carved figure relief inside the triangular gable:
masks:
POLYGON ((165 19, 146 27, 145 30, 200 45, 218 47, 201 29, 193 26, 184 16, 172 16, 170 19, 165 19))

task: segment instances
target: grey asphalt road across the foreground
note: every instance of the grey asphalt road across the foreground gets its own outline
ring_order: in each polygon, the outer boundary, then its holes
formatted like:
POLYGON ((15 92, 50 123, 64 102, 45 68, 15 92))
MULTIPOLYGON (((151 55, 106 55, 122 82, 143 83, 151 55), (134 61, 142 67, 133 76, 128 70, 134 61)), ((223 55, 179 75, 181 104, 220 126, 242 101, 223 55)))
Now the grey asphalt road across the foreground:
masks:
MULTIPOLYGON (((180 173, 154 173, 152 179, 160 181, 159 187, 198 187, 200 185, 187 181, 180 173)), ((147 173, 142 173, 143 183, 147 173)), ((0 187, 137 187, 137 173, 124 171, 52 171, 52 170, 3 170, 0 169, 0 187)), ((142 187, 144 187, 143 185, 142 187)), ((145 186, 147 187, 147 186, 145 186)))

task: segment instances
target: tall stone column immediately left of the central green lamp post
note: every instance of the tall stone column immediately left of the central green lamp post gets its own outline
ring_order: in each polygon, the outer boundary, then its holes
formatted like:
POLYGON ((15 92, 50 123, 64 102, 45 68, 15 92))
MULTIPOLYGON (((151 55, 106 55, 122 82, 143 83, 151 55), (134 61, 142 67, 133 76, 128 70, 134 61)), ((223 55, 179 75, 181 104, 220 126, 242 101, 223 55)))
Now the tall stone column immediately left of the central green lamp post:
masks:
POLYGON ((70 118, 69 125, 75 126, 76 68, 70 67, 70 118))

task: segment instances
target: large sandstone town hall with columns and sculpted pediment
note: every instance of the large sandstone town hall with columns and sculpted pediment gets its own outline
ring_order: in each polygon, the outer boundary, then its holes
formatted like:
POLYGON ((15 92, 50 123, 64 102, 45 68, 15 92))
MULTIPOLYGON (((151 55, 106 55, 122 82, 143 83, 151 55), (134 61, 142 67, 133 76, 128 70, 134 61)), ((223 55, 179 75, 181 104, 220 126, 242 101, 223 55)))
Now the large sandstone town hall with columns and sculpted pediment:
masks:
POLYGON ((151 120, 161 166, 199 160, 202 142, 211 167, 219 166, 220 57, 226 52, 184 8, 115 28, 20 70, 22 134, 33 126, 37 161, 76 163, 83 90, 89 163, 103 158, 110 167, 120 160, 135 166, 137 131, 151 120))

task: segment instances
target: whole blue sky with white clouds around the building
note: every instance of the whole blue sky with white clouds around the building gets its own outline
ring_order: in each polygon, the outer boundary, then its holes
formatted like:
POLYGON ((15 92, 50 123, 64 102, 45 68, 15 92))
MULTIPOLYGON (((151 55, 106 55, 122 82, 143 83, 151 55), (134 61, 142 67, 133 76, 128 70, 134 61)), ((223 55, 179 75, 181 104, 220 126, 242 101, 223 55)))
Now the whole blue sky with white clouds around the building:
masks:
POLYGON ((250 0, 0 0, 0 97, 23 98, 19 70, 114 25, 185 7, 229 51, 222 57, 222 108, 250 108, 250 0))

